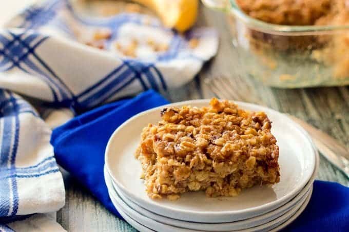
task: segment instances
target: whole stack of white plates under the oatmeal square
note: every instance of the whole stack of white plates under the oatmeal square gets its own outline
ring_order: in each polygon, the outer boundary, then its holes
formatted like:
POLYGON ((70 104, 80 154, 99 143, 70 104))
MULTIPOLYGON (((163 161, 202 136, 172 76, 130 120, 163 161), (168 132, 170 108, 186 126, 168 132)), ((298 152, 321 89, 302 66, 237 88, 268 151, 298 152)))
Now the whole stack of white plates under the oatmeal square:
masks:
MULTIPOLYGON (((172 104, 208 106, 209 100, 172 104)), ((319 157, 306 132, 287 116, 254 104, 237 102, 245 110, 264 111, 273 121, 280 147, 280 182, 243 189, 237 197, 208 198, 185 193, 176 201, 152 200, 140 180, 141 164, 134 158, 140 134, 160 120, 164 107, 138 114, 114 132, 106 149, 104 176, 114 206, 140 231, 269 231, 294 221, 308 204, 319 157)))

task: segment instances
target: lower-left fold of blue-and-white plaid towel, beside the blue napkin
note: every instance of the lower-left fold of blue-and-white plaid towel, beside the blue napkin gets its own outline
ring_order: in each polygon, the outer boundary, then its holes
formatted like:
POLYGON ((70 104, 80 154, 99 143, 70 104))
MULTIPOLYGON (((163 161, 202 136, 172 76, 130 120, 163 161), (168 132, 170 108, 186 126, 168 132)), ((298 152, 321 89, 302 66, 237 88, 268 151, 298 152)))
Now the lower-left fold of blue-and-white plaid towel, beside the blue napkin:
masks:
POLYGON ((49 126, 26 101, 0 90, 0 225, 63 207, 63 178, 50 138, 49 126))

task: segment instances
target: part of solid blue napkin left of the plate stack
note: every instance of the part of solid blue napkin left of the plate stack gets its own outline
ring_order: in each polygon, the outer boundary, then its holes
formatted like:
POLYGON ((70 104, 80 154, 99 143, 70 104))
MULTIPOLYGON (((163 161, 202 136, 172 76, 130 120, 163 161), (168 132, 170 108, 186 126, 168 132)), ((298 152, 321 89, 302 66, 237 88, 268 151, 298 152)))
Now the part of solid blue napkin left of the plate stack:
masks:
POLYGON ((104 181, 105 147, 111 134, 128 118, 167 103, 160 94, 149 90, 73 118, 53 130, 51 143, 57 163, 121 218, 110 201, 104 181))

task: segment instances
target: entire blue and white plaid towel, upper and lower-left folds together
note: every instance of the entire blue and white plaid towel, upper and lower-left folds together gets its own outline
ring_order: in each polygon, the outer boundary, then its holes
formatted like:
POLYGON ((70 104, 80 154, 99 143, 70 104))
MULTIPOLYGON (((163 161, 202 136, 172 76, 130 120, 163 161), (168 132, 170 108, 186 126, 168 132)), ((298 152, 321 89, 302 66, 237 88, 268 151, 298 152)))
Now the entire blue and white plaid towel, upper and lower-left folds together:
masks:
POLYGON ((0 231, 2 221, 55 212, 65 201, 49 126, 13 92, 75 114, 147 89, 181 87, 217 49, 211 29, 180 35, 137 13, 82 17, 68 0, 32 6, 11 19, 0 29, 0 231), (79 43, 101 28, 111 32, 105 50, 79 43), (121 57, 115 43, 134 39, 137 58, 121 57), (155 52, 148 39, 168 49, 155 52))

